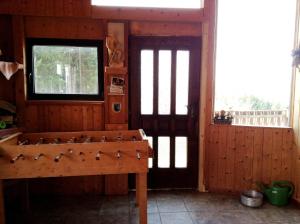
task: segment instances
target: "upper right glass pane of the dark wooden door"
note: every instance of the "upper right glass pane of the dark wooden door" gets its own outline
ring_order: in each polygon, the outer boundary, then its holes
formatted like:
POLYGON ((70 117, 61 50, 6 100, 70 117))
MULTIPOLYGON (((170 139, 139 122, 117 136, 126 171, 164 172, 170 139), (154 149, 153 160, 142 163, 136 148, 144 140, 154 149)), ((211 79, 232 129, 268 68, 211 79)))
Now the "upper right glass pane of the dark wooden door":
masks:
POLYGON ((176 59, 176 114, 187 114, 189 98, 189 51, 177 51, 176 59))

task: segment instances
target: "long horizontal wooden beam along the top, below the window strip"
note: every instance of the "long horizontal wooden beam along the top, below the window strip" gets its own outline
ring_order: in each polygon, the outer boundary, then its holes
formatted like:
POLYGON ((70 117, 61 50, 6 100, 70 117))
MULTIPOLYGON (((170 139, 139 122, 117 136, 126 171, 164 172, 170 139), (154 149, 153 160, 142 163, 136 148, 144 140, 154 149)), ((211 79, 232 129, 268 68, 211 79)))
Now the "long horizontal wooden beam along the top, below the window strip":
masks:
POLYGON ((92 6, 90 0, 1 0, 0 14, 197 23, 205 20, 204 9, 101 7, 92 6))

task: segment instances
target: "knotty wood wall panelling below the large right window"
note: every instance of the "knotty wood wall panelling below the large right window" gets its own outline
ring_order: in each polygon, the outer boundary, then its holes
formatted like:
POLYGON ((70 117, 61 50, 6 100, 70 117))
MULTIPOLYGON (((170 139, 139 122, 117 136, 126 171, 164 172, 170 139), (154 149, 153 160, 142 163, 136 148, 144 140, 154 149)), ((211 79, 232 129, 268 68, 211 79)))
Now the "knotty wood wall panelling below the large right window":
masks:
POLYGON ((206 147, 209 191, 240 192, 256 181, 294 182, 291 128, 210 125, 206 147))

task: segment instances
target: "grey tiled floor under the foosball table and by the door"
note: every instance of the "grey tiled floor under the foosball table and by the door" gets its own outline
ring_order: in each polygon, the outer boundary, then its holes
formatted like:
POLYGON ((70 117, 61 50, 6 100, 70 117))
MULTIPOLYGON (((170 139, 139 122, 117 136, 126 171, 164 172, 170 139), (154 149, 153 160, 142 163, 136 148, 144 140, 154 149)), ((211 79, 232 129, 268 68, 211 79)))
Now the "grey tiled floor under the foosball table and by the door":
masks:
MULTIPOLYGON (((242 206, 238 197, 192 191, 159 191, 148 194, 149 224, 289 224, 300 223, 296 205, 283 208, 268 203, 259 209, 242 206)), ((27 222, 34 224, 136 224, 134 193, 128 196, 41 198, 32 202, 27 222)), ((9 223, 26 223, 21 215, 9 223)))

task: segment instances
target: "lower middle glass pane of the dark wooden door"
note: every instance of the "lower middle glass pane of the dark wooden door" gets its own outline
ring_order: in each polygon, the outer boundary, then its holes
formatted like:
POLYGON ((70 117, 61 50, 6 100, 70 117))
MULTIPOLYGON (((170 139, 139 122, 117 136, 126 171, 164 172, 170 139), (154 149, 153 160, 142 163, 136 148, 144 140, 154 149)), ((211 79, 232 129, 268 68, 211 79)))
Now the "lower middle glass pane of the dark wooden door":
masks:
POLYGON ((170 137, 158 137, 158 167, 170 167, 170 137))

